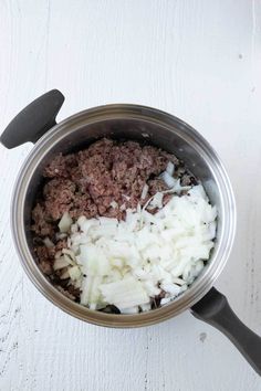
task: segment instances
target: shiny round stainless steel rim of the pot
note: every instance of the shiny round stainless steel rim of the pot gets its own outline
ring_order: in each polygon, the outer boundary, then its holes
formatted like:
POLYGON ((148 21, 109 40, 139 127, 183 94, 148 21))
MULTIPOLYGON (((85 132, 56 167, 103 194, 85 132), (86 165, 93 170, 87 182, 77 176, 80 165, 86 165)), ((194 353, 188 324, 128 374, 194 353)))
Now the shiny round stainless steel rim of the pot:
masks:
POLYGON ((217 152, 197 130, 181 119, 156 108, 133 104, 112 104, 97 106, 74 114, 55 125, 38 140, 22 165, 14 184, 11 202, 11 230, 14 245, 25 273, 36 288, 49 300, 63 309, 65 313, 81 320, 100 326, 132 328, 157 324, 180 314, 196 304, 212 287, 215 281, 223 270, 232 249, 236 234, 236 214, 234 196, 227 171, 217 152), (67 134, 79 129, 81 126, 109 119, 140 119, 143 121, 153 121, 156 125, 161 125, 169 129, 174 125, 178 125, 182 137, 189 139, 190 142, 194 141, 194 146, 205 155, 205 160, 208 160, 209 166, 212 169, 213 167, 216 168, 213 177, 216 178, 219 187, 222 207, 227 212, 223 216, 227 221, 222 224, 223 229, 221 232, 218 251, 212 256, 212 260, 206 267, 206 271, 199 275, 195 283, 174 302, 170 302, 160 308, 135 315, 115 315, 91 310, 72 302, 60 293, 45 278, 36 265, 27 242, 25 229, 23 224, 23 208, 25 203, 27 189, 36 165, 43 159, 50 149, 52 149, 53 146, 67 134), (219 176, 219 180, 217 180, 217 176, 219 176))

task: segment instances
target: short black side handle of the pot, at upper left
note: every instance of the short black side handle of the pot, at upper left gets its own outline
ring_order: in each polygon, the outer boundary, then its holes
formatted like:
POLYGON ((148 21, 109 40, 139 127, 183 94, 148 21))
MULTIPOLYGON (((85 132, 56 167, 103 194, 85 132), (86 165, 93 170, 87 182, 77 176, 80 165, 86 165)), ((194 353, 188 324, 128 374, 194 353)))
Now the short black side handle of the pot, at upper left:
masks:
POLYGON ((1 144, 11 149, 21 144, 36 140, 56 125, 55 118, 62 107, 64 96, 52 89, 30 103, 8 125, 0 137, 1 144))

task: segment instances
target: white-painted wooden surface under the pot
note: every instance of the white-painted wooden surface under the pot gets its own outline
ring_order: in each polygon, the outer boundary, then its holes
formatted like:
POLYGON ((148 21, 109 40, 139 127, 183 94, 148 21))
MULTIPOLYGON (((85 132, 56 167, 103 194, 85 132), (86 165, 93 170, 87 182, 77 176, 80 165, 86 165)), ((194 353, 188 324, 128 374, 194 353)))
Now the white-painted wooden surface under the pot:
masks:
MULTIPOLYGON (((238 233, 217 287, 261 335, 260 0, 0 0, 0 128, 48 89, 60 118, 140 103, 195 126, 221 156, 238 233)), ((261 380, 188 311, 161 325, 104 329, 56 309, 24 276, 10 197, 31 145, 0 147, 0 390, 244 391, 261 380)))

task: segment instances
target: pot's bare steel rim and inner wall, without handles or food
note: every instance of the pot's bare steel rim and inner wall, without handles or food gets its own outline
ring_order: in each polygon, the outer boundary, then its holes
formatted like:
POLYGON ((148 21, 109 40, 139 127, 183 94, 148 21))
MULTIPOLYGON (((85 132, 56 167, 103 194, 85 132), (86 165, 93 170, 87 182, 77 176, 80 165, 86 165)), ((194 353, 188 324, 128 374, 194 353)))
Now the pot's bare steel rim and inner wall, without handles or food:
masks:
POLYGON ((29 278, 54 305, 67 314, 107 327, 140 327, 178 315, 197 303, 213 285, 231 251, 236 230, 236 205, 226 170, 211 146, 180 119, 145 106, 107 105, 81 112, 50 129, 34 146, 21 168, 13 191, 12 234, 29 278), (202 180, 218 207, 218 234, 211 260, 201 275, 173 303, 137 315, 111 315, 90 310, 58 292, 39 270, 32 252, 30 215, 40 173, 51 156, 80 149, 103 136, 147 140, 184 159, 202 180))

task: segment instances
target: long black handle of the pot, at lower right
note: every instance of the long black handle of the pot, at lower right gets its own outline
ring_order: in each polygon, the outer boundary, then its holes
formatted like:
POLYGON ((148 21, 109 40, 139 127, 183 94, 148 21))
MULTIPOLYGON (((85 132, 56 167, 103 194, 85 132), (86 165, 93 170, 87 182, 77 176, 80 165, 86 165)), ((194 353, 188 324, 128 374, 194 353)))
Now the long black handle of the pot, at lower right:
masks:
POLYGON ((261 376, 261 337, 242 324, 230 308, 226 296, 211 288, 191 307, 191 313, 223 332, 261 376))

